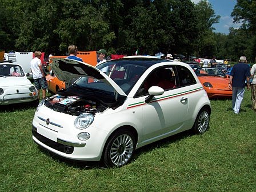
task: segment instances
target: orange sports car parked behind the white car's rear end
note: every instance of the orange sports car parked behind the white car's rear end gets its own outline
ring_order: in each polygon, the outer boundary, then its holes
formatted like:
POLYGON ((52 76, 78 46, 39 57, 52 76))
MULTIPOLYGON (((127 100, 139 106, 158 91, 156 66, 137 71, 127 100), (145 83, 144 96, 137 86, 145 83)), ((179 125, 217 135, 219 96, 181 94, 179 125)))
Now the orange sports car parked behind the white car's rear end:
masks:
POLYGON ((232 90, 229 89, 229 78, 221 69, 202 67, 196 69, 195 74, 197 74, 209 98, 232 97, 232 90))

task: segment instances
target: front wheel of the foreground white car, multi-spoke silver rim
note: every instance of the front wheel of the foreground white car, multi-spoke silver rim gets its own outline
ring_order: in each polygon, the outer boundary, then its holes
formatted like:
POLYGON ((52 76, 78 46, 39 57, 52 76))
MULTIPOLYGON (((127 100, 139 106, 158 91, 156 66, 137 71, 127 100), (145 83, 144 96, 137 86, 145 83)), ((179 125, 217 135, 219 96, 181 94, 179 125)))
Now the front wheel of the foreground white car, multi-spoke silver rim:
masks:
POLYGON ((108 167, 122 167, 131 161, 136 142, 128 130, 117 130, 107 139, 103 161, 108 167))

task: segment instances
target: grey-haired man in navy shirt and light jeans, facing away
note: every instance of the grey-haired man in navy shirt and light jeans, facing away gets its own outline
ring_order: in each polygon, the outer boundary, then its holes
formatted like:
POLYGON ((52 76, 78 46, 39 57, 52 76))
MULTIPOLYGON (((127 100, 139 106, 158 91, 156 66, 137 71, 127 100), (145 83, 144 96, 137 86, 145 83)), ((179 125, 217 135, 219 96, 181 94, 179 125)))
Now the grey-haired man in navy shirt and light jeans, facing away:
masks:
POLYGON ((229 89, 232 89, 232 109, 235 114, 239 114, 240 106, 243 101, 245 80, 247 80, 247 90, 249 90, 250 67, 246 65, 246 57, 241 56, 239 63, 233 66, 229 79, 229 89))

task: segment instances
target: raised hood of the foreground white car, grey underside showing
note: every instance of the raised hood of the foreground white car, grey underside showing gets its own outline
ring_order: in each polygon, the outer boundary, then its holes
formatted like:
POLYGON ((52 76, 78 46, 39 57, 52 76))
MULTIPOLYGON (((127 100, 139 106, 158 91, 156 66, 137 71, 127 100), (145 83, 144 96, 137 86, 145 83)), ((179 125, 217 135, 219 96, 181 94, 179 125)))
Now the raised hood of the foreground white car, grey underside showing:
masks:
POLYGON ((50 64, 51 69, 60 81, 70 82, 71 79, 77 77, 92 77, 113 86, 119 95, 127 96, 117 83, 94 66, 67 58, 52 58, 51 60, 53 61, 50 64))

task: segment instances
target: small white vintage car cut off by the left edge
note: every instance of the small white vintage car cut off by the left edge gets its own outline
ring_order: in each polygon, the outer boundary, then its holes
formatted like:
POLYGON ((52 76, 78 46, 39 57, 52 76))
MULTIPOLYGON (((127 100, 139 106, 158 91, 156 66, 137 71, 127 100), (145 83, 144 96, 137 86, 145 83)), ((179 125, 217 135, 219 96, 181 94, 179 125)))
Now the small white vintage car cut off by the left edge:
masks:
POLYGON ((27 79, 22 66, 17 63, 0 63, 0 106, 30 102, 38 106, 35 86, 27 79))

